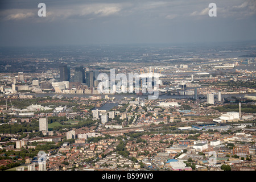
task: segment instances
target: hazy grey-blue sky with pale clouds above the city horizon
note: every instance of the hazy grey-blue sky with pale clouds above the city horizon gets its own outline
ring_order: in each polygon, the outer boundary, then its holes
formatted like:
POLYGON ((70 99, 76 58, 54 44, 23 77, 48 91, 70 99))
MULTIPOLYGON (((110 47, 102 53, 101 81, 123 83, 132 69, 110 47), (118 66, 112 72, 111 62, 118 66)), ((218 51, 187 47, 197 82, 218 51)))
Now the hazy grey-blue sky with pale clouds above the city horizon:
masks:
POLYGON ((247 40, 256 40, 255 0, 0 1, 1 47, 247 40))

